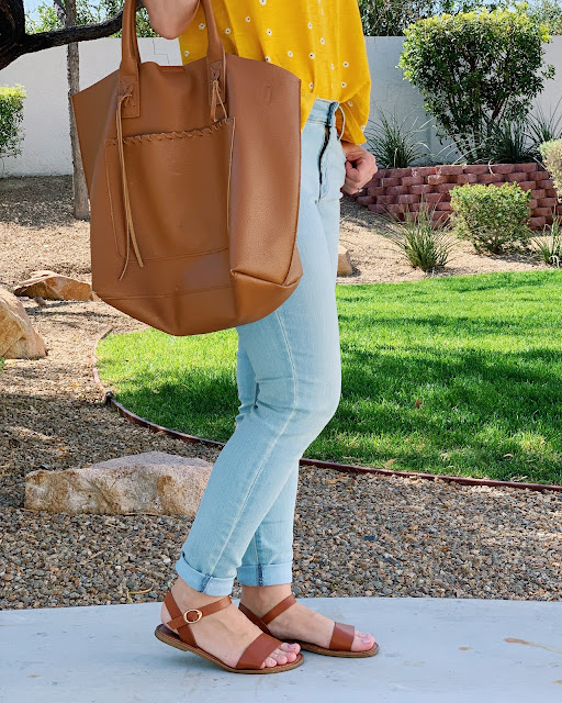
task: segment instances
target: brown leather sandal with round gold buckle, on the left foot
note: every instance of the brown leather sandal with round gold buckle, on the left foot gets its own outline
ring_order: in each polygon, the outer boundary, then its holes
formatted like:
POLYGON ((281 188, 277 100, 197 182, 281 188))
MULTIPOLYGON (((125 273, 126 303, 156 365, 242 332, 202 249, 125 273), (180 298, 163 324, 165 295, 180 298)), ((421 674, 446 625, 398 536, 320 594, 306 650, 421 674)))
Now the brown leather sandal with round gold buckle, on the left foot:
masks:
POLYGON ((278 663, 274 667, 263 667, 260 669, 267 657, 282 645, 282 641, 277 639, 277 637, 273 637, 271 634, 261 633, 261 635, 258 635, 256 639, 241 652, 236 667, 229 667, 224 661, 221 661, 218 657, 215 657, 211 652, 199 647, 191 629, 193 623, 199 623, 199 621, 205 615, 211 615, 211 613, 216 613, 217 611, 223 610, 223 607, 228 607, 232 603, 229 595, 225 595, 217 601, 203 605, 203 607, 191 607, 184 613, 181 613, 171 591, 168 591, 164 602, 172 620, 167 623, 169 627, 164 624, 156 627, 154 633, 156 637, 158 637, 160 641, 171 645, 177 649, 182 649, 183 651, 189 650, 200 657, 209 659, 210 661, 214 661, 227 671, 233 671, 234 673, 276 673, 277 671, 296 669, 296 667, 300 667, 304 661, 304 656, 299 652, 294 661, 289 663, 278 663), (189 615, 189 613, 193 613, 194 615, 189 615), (177 629, 178 634, 172 632, 172 629, 177 629))

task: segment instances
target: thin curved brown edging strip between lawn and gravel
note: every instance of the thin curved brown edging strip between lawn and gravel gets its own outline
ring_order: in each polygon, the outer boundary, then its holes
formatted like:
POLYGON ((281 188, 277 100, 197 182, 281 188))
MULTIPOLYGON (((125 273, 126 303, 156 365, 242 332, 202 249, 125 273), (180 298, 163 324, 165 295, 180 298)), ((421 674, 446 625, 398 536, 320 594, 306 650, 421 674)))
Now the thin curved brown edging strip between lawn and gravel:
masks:
MULTIPOLYGON (((113 327, 106 328, 95 338, 93 344, 92 352, 92 370, 93 370, 93 380, 95 384, 103 391, 103 404, 110 405, 114 408, 122 417, 128 420, 128 422, 140 425, 142 427, 146 427, 151 432, 159 432, 175 439, 181 439, 182 442, 189 442, 191 444, 201 443, 210 447, 224 447, 224 442, 215 442, 214 439, 207 439, 205 437, 198 437, 195 435, 189 435, 183 432, 179 432, 178 429, 170 429, 169 427, 164 427, 162 425, 157 425, 146 417, 140 417, 136 413, 127 410, 122 403, 115 400, 113 392, 108 390, 103 383, 101 382, 100 375, 98 372, 98 359, 97 359, 97 348, 98 344, 113 330, 113 327)), ((305 457, 301 457, 299 464, 303 464, 305 466, 316 466, 321 469, 334 469, 335 471, 340 471, 344 473, 371 473, 379 476, 396 476, 398 478, 407 478, 407 479, 425 479, 429 481, 447 481, 449 483, 460 483, 461 486, 490 486, 492 488, 515 488, 518 490, 528 490, 528 491, 553 491, 553 492, 562 492, 562 486, 555 486, 552 483, 522 483, 519 481, 498 481, 495 479, 475 479, 465 476, 448 476, 446 473, 422 473, 418 471, 398 471, 395 469, 385 469, 383 467, 367 467, 367 466, 357 466, 355 464, 338 464, 336 461, 322 461, 321 459, 307 459, 305 457)))

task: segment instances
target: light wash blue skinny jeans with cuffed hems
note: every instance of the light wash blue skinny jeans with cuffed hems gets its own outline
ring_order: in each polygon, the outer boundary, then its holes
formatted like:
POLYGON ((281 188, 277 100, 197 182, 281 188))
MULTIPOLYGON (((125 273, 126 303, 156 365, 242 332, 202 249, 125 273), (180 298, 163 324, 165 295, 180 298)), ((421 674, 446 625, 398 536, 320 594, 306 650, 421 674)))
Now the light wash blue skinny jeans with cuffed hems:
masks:
POLYGON ((303 276, 277 310, 236 327, 236 429, 175 565, 189 585, 210 595, 229 594, 235 577, 248 585, 292 582, 299 459, 339 404, 335 289, 346 157, 338 108, 337 100, 318 98, 301 133, 303 276))

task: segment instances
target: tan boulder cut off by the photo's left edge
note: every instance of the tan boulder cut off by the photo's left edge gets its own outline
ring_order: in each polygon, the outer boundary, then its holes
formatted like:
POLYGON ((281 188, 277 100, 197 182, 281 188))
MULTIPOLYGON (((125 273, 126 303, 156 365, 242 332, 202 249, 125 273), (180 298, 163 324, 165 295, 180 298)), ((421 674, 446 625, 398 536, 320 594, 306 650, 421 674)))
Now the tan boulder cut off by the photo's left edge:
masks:
POLYGON ((0 356, 4 359, 41 359, 45 343, 35 332, 21 301, 0 288, 0 356))

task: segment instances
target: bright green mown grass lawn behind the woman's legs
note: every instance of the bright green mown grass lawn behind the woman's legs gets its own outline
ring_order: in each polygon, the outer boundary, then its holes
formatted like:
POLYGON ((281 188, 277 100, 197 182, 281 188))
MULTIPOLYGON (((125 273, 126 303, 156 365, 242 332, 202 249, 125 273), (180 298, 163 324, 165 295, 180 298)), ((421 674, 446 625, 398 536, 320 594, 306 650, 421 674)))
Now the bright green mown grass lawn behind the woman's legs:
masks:
MULTIPOLYGON (((342 392, 306 457, 562 483, 562 271, 337 286, 342 392)), ((225 442, 235 330, 109 335, 99 370, 158 424, 225 442)))

